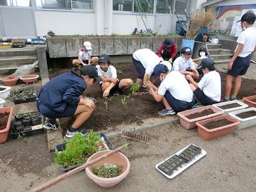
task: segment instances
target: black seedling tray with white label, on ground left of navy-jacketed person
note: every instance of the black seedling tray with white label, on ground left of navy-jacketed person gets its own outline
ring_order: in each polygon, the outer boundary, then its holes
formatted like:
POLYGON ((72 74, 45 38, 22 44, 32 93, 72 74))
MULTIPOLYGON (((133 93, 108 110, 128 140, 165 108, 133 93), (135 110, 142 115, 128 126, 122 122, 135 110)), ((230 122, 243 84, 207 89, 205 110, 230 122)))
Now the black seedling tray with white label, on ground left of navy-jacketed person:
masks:
MULTIPOLYGON (((17 139, 19 136, 32 136, 32 135, 36 135, 36 134, 42 134, 44 133, 44 128, 42 127, 42 120, 41 120, 41 114, 39 112, 32 112, 32 113, 22 113, 19 115, 16 115, 13 122, 12 122, 12 129, 10 134, 12 135, 13 138, 17 139), (31 130, 23 130, 23 131, 17 131, 17 129, 15 128, 15 126, 13 125, 13 122, 16 121, 22 121, 22 119, 24 118, 24 116, 30 116, 30 118, 38 118, 37 119, 37 123, 33 124, 33 121, 30 120, 29 125, 31 126, 31 130)), ((34 120, 34 119, 33 119, 34 120)), ((23 124, 23 123, 22 123, 23 124)))

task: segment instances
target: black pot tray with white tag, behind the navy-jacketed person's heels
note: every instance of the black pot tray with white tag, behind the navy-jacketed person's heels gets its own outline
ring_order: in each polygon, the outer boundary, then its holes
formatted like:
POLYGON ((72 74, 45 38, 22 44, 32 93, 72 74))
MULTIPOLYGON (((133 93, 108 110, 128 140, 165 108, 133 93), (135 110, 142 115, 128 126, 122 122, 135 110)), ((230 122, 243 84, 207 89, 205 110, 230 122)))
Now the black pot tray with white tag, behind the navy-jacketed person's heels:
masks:
MULTIPOLYGON (((24 115, 38 116, 38 118, 41 117, 41 114, 39 112, 22 113, 22 114, 16 115, 14 120, 13 120, 13 122, 18 120, 17 116, 21 116, 21 119, 19 119, 19 120, 22 120, 22 118, 24 118, 22 116, 24 116, 24 115)), ((12 135, 12 137, 14 139, 17 139, 19 136, 33 136, 33 135, 36 135, 36 134, 44 133, 44 128, 42 127, 42 124, 33 125, 32 122, 30 122, 29 126, 31 126, 31 130, 28 130, 28 131, 25 130, 25 131, 17 132, 17 130, 15 129, 15 127, 14 127, 14 125, 12 123, 12 129, 11 129, 10 134, 12 135)))

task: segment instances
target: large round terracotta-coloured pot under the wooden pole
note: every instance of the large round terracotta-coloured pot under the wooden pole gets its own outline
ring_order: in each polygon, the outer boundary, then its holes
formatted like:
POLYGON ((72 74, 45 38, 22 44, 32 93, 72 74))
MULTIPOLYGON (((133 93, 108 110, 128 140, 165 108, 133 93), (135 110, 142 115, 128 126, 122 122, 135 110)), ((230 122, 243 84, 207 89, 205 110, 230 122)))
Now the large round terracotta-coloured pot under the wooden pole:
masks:
MULTIPOLYGON (((93 159, 96 159, 99 156, 103 156, 104 154, 106 154, 108 152, 109 152, 109 150, 99 151, 99 152, 93 154, 92 156, 90 156, 86 163, 92 161, 93 159)), ((121 180, 123 180, 128 175, 128 173, 130 172, 130 167, 131 167, 129 159, 127 159, 127 157, 120 152, 113 154, 105 159, 102 159, 101 161, 93 164, 92 166, 86 168, 85 171, 86 171, 88 177, 90 177, 90 179, 92 179, 95 183, 97 183, 102 188, 111 188, 111 187, 115 186, 116 184, 118 184, 121 180), (118 177, 113 177, 113 178, 102 178, 102 177, 97 177, 96 175, 94 175, 92 172, 92 166, 97 166, 97 165, 104 164, 104 163, 122 165, 123 170, 122 170, 121 175, 118 175, 118 177)))

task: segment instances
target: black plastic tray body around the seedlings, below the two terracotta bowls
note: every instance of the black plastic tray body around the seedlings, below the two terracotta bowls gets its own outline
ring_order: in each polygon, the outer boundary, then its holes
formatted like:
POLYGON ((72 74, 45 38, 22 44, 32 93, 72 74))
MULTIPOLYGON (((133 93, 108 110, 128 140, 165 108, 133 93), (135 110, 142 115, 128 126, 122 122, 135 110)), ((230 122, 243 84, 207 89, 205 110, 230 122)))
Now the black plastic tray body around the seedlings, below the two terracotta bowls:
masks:
POLYGON ((30 93, 28 97, 23 98, 23 99, 15 99, 13 98, 13 102, 14 104, 20 104, 20 103, 24 103, 24 102, 32 102, 36 100, 36 89, 35 86, 30 86, 28 88, 21 88, 17 91, 14 91, 12 94, 13 95, 21 95, 22 93, 30 93))

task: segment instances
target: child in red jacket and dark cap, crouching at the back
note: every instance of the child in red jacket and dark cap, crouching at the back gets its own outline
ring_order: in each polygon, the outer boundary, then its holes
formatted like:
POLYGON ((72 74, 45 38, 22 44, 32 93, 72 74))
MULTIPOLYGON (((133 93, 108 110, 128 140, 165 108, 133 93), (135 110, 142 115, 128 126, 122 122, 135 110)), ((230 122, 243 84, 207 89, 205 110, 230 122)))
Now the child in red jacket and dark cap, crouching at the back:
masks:
POLYGON ((177 58, 177 45, 171 38, 166 38, 158 48, 157 55, 162 61, 172 63, 177 58))

